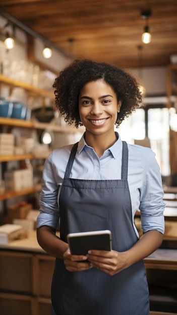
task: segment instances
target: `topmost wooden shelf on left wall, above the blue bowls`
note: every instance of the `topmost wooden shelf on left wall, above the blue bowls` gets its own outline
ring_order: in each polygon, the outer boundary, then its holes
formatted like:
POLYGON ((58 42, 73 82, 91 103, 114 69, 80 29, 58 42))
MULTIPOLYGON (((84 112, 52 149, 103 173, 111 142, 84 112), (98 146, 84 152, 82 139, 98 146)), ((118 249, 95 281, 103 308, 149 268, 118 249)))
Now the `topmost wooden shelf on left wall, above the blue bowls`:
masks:
POLYGON ((30 85, 23 83, 21 81, 13 80, 12 78, 4 76, 3 74, 0 74, 0 82, 4 83, 6 85, 9 85, 9 86, 22 88, 28 92, 34 93, 34 94, 42 96, 42 97, 54 98, 53 92, 30 86, 30 85))

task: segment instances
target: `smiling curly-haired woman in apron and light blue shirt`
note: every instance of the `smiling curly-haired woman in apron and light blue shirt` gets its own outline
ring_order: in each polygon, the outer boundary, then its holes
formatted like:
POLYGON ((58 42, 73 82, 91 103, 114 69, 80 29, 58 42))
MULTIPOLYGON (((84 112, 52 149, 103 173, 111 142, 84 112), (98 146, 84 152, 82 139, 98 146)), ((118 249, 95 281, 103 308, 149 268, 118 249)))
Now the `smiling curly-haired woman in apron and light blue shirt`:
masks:
POLYGON ((114 132, 114 125, 141 103, 138 83, 107 63, 75 60, 53 87, 56 108, 69 124, 84 125, 86 131, 74 146, 53 150, 43 171, 37 238, 56 257, 52 314, 147 315, 142 260, 162 242, 161 176, 150 148, 127 144, 114 132), (59 219, 60 238, 55 235, 59 219), (111 251, 71 255, 68 233, 102 229, 111 230, 111 251))

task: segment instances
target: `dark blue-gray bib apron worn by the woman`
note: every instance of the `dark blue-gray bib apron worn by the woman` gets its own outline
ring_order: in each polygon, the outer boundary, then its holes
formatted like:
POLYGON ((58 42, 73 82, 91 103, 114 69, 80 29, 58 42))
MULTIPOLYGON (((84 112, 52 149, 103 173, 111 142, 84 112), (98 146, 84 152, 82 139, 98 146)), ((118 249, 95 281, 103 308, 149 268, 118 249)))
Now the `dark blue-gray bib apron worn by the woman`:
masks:
MULTIPOLYGON (((67 234, 110 229, 112 250, 138 242, 128 185, 128 147, 123 141, 121 180, 70 178, 78 143, 71 151, 60 193, 61 239, 67 234)), ((149 291, 143 261, 109 276, 95 268, 70 272, 56 259, 51 285, 56 315, 148 315, 149 291)))

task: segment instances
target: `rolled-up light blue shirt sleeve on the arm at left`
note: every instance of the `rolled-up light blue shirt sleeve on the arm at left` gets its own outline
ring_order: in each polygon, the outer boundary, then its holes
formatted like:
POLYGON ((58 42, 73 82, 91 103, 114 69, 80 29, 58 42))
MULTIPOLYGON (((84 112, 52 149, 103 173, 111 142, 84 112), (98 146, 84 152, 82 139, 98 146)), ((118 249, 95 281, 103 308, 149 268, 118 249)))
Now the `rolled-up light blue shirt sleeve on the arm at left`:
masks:
POLYGON ((59 187, 55 178, 55 168, 52 164, 52 154, 47 157, 44 165, 40 192, 40 214, 37 218, 37 227, 48 225, 56 228, 60 217, 57 203, 59 187))

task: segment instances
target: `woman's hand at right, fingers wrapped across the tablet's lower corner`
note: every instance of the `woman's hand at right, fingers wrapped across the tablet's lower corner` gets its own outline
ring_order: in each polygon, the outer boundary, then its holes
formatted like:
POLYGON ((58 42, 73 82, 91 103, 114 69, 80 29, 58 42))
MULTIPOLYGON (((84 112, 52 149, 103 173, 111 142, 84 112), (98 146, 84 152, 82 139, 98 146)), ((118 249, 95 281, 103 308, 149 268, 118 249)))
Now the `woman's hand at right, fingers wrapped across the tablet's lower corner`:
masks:
POLYGON ((89 251, 88 261, 93 267, 107 273, 110 276, 127 268, 125 253, 115 251, 89 251))

